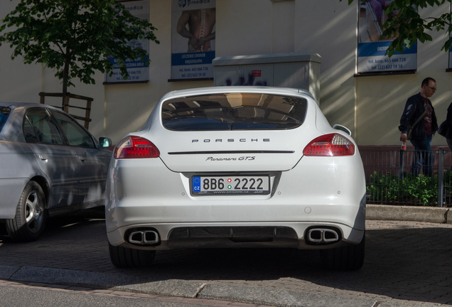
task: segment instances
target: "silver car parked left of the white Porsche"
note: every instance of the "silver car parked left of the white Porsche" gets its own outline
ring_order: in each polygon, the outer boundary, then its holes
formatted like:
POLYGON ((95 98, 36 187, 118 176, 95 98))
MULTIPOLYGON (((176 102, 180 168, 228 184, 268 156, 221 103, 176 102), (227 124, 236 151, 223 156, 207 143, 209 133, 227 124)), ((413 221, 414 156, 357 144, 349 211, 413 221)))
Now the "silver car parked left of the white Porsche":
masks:
POLYGON ((69 114, 0 102, 0 221, 14 241, 38 239, 46 217, 104 205, 111 151, 69 114))

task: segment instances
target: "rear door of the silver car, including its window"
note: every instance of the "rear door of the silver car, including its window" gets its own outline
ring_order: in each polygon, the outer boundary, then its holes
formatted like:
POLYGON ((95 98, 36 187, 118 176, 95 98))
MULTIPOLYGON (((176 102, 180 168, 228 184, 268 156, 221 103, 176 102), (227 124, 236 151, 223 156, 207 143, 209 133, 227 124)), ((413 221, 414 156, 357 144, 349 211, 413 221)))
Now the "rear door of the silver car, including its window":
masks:
POLYGON ((49 209, 79 203, 77 168, 80 162, 72 147, 65 144, 47 109, 36 108, 26 112, 23 134, 41 171, 48 176, 49 209))

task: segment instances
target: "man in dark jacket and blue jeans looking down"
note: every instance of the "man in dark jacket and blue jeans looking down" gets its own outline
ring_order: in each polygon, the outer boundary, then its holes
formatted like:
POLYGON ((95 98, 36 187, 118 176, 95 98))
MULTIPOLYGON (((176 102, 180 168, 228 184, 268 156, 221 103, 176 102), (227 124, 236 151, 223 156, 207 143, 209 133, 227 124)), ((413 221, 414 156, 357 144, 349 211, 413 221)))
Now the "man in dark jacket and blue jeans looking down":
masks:
POLYGON ((408 126, 412 127, 410 141, 416 151, 411 165, 411 173, 414 173, 414 176, 419 175, 421 165, 424 175, 431 176, 433 173, 434 155, 430 143, 432 136, 438 130, 438 123, 429 97, 433 96, 435 92, 436 80, 426 77, 421 83, 421 92, 408 98, 400 118, 399 130, 402 132, 400 141, 407 141, 408 126))

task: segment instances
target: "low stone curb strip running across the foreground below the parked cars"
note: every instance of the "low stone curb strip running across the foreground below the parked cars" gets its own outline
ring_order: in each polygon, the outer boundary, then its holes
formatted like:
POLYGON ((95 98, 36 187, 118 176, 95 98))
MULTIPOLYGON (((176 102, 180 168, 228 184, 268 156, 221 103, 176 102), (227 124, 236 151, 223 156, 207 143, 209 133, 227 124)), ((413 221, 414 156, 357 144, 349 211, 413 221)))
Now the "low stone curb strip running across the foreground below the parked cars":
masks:
MULTIPOLYGON (((108 290, 135 293, 157 294, 185 298, 213 299, 237 303, 254 303, 282 307, 434 307, 436 303, 413 301, 376 301, 372 298, 330 296, 301 291, 262 289, 251 286, 230 286, 201 284, 198 281, 168 279, 166 281, 147 281, 141 284, 138 278, 124 278, 124 274, 102 274, 70 269, 49 269, 33 266, 0 266, 4 271, 16 271, 11 281, 28 281, 70 286, 90 286, 108 290), (95 276, 97 275, 97 276, 95 276), (126 285, 124 285, 126 284, 126 285), (122 285, 122 286, 119 286, 122 285)), ((4 275, 1 275, 4 276, 4 275)), ((0 276, 0 277, 1 277, 0 276)))

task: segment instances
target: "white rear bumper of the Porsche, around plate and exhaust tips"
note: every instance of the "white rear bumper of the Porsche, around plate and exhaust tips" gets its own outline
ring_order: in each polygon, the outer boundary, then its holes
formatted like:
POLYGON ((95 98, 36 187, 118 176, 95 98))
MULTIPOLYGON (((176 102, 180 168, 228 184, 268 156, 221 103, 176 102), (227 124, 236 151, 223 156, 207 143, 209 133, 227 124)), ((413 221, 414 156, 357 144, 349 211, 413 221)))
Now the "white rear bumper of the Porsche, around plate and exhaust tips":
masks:
POLYGON ((365 230, 365 179, 360 157, 328 158, 328 163, 324 160, 302 158, 290 171, 269 172, 270 195, 244 196, 190 195, 192 174, 168 171, 159 159, 147 159, 146 163, 113 161, 105 208, 109 242, 156 250, 319 249, 358 244, 365 230), (306 244, 306 232, 311 227, 333 228, 340 239, 333 244, 306 244), (127 231, 137 228, 155 230, 158 244, 145 247, 127 243, 127 231), (240 229, 252 235, 237 239, 240 229), (275 234, 269 235, 272 229, 276 229, 275 234), (281 236, 284 229, 291 235, 281 236), (175 232, 186 235, 174 237, 175 232))

